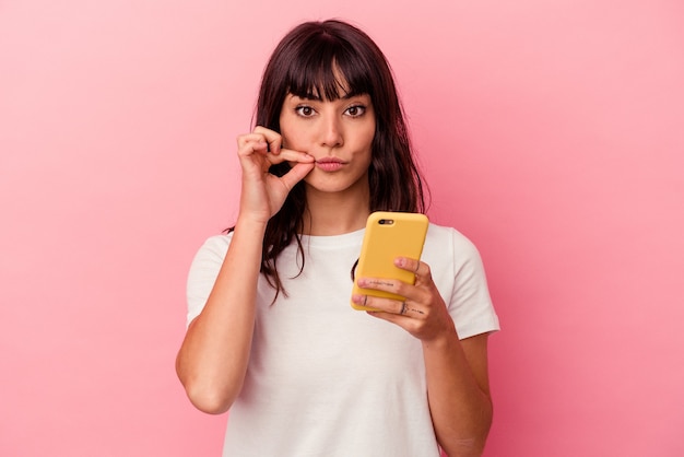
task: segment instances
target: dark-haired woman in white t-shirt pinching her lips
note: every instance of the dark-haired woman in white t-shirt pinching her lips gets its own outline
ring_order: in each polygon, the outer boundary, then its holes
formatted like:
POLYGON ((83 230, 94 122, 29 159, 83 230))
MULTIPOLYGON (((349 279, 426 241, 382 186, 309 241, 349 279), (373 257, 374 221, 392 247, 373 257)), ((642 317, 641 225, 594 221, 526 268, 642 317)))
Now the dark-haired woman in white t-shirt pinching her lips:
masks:
POLYGON ((231 411, 224 456, 480 455, 498 320, 474 246, 431 224, 422 261, 396 260, 415 284, 358 278, 405 302, 351 295, 368 214, 424 211, 382 52, 343 22, 295 27, 256 121, 235 226, 190 269, 177 360, 197 408, 231 411))

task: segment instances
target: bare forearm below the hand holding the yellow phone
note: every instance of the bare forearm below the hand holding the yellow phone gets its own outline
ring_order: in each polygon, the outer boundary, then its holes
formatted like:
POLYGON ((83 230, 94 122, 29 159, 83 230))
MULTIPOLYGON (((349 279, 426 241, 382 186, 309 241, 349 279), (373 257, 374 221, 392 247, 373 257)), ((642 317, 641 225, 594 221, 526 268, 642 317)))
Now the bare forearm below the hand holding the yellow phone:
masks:
MULTIPOLYGON (((484 351, 486 363, 486 336, 475 338, 464 341, 471 351, 484 351)), ((450 457, 480 456, 492 424, 488 387, 485 390, 479 384, 456 331, 423 342, 423 353, 431 414, 440 446, 450 457)))

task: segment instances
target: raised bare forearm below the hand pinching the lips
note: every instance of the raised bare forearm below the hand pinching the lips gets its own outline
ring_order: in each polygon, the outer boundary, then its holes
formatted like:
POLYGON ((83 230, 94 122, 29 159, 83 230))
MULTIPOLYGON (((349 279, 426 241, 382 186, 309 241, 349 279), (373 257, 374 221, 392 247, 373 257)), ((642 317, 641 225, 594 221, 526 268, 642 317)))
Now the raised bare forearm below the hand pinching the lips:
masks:
POLYGON ((202 411, 225 412, 241 389, 251 348, 264 230, 264 224, 238 219, 212 292, 178 352, 178 377, 202 411))

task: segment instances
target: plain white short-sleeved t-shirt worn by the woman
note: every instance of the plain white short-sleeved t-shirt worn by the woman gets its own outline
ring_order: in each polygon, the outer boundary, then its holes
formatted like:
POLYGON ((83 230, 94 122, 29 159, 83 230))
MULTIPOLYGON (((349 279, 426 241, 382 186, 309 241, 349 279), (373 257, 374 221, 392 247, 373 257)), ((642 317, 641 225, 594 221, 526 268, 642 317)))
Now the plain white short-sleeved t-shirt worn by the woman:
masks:
MULTIPOLYGON (((278 259, 287 296, 259 278, 251 356, 233 403, 224 457, 438 457, 421 342, 350 306, 364 231, 304 236, 278 259)), ((188 323, 211 292, 232 235, 209 238, 188 278, 188 323)), ((429 225, 422 260, 460 338, 498 330, 480 255, 429 225)))

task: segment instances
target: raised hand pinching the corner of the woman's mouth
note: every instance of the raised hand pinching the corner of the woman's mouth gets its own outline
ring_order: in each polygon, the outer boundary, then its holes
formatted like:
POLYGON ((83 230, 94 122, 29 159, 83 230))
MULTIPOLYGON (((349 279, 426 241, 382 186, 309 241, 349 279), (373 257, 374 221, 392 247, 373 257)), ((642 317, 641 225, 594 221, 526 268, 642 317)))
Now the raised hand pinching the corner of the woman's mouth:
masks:
POLYGON ((243 168, 240 216, 266 224, 275 214, 292 188, 314 169, 314 157, 282 147, 280 133, 258 126, 237 138, 237 155, 243 168), (278 177, 271 165, 290 162, 292 169, 278 177))

